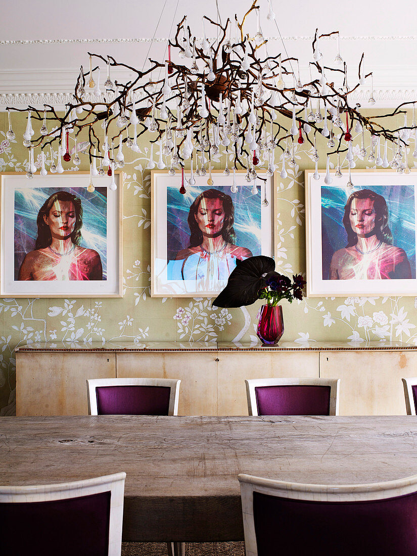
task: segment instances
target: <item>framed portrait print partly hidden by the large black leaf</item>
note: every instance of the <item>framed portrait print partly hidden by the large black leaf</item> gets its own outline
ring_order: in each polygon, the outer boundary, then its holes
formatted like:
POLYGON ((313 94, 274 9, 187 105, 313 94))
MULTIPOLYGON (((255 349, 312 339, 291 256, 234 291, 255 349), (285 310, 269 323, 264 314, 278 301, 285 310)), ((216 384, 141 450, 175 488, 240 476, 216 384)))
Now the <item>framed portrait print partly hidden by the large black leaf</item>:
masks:
POLYGON ((257 180, 254 194, 245 172, 236 172, 236 192, 232 173, 212 172, 212 185, 196 176, 185 195, 181 173, 151 177, 151 296, 215 297, 236 260, 272 256, 271 177, 257 180))

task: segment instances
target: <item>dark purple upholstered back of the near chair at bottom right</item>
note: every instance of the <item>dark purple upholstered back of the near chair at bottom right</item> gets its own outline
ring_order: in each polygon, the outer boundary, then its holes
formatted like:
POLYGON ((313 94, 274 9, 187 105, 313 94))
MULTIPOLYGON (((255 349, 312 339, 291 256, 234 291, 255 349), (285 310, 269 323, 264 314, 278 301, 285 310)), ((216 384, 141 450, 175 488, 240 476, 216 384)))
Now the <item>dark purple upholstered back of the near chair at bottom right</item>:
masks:
POLYGON ((417 493, 312 502, 254 492, 258 556, 416 556, 417 493))

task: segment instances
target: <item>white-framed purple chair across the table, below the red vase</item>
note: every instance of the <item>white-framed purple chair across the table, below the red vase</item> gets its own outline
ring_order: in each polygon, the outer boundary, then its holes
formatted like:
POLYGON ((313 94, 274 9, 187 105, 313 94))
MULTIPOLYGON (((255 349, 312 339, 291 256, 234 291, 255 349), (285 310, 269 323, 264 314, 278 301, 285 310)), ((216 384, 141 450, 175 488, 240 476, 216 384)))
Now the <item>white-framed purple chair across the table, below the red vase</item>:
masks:
POLYGON ((249 415, 339 415, 340 379, 245 380, 249 415))

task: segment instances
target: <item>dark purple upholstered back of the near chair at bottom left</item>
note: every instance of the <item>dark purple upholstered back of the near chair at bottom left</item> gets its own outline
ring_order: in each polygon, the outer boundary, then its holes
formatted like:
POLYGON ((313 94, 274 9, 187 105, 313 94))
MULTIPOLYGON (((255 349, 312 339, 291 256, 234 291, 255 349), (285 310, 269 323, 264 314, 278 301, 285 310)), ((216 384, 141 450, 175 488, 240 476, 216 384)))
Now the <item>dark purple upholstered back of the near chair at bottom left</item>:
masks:
POLYGON ((0 554, 107 556, 110 492, 49 502, 0 503, 0 554))

